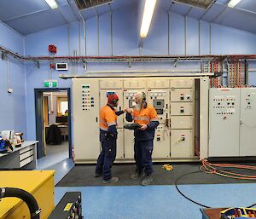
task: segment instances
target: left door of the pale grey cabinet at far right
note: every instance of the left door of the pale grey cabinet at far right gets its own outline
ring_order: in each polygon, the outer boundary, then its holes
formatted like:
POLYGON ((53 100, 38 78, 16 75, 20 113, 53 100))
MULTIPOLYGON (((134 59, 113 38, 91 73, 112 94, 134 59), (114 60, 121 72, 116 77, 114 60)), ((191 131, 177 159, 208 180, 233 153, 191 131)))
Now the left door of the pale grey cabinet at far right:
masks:
POLYGON ((209 157, 239 156, 240 89, 210 89, 209 157))

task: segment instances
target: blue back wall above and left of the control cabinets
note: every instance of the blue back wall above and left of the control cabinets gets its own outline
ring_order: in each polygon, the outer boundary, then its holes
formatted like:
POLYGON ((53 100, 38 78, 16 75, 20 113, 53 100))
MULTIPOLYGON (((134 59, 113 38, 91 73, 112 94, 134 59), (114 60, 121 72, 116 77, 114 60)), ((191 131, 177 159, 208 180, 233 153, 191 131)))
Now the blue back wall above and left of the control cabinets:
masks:
MULTIPOLYGON (((111 15, 99 16, 86 20, 86 52, 87 55, 208 55, 212 54, 255 54, 256 36, 226 26, 210 24, 193 18, 157 9, 150 32, 143 49, 138 49, 137 8, 125 8, 113 11, 113 36, 111 35, 111 15), (169 28, 168 28, 169 17, 169 28), (186 28, 185 28, 186 26, 186 28), (169 32, 168 32, 169 30, 169 32), (99 35, 98 35, 99 33, 99 35), (97 42, 99 39, 99 42, 97 42), (113 48, 112 44, 113 42, 113 48), (168 50, 169 42, 169 50, 168 50)), ((49 55, 47 47, 55 44, 57 55, 84 55, 83 26, 74 22, 67 26, 59 26, 43 32, 33 33, 25 37, 26 55, 49 55), (80 34, 80 35, 79 35, 80 34)), ((160 63, 88 63, 88 70, 182 70, 198 69, 197 62, 179 62, 177 67, 170 62, 160 63)), ((80 64, 69 64, 67 74, 83 74, 80 64)), ((57 79, 59 87, 70 87, 70 80, 58 78, 61 72, 53 71, 53 79, 57 79)), ((27 130, 28 138, 35 139, 34 89, 42 88, 45 79, 49 79, 49 63, 42 62, 38 69, 32 63, 26 64, 27 89, 27 130)))

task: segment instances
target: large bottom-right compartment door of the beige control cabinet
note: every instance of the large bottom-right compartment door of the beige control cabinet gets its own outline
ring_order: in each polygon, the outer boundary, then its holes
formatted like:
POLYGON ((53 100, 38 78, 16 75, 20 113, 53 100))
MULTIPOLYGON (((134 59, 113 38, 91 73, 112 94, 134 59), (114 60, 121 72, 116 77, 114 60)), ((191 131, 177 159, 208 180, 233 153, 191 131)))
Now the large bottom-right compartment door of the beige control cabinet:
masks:
POLYGON ((195 156, 192 130, 171 130, 171 158, 195 156))

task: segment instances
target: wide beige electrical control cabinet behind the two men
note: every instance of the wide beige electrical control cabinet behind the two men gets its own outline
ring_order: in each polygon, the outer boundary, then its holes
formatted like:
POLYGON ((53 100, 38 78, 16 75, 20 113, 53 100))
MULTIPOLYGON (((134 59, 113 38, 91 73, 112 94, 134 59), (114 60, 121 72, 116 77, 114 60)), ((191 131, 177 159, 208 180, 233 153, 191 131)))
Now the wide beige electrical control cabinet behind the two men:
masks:
MULTIPOLYGON (((109 94, 119 96, 117 111, 136 107, 137 92, 146 94, 160 118, 155 130, 154 161, 195 159, 195 78, 73 78, 73 152, 75 164, 95 163, 101 151, 99 111, 109 94)), ((231 101, 230 101, 231 102, 231 101)), ((230 104, 232 106, 232 103, 230 104)), ((236 106, 236 105, 235 105, 236 106)), ((134 133, 118 117, 115 162, 134 161, 134 133)))

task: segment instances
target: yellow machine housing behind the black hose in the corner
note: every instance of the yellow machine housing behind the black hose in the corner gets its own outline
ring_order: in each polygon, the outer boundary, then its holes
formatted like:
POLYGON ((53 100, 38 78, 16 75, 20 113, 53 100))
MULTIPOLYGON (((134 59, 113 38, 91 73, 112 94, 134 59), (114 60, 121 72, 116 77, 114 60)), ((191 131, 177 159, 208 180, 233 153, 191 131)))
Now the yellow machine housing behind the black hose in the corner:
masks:
MULTIPOLYGON (((41 209, 40 218, 46 219, 55 208, 54 170, 0 171, 0 187, 17 187, 31 193, 41 209)), ((5 198, 0 201, 0 219, 30 218, 24 201, 5 198)))

